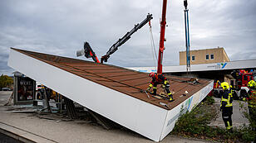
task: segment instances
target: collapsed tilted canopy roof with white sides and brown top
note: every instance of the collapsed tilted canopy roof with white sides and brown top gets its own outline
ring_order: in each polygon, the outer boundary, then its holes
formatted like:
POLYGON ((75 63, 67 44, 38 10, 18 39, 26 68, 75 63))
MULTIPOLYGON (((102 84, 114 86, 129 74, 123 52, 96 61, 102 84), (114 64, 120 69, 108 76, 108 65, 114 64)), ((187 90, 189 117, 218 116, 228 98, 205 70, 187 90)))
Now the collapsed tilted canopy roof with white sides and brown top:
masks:
POLYGON ((140 92, 150 83, 148 74, 110 64, 11 48, 8 65, 153 141, 163 140, 180 114, 190 112, 213 88, 212 80, 190 83, 189 78, 166 76, 175 98, 169 102, 140 92))

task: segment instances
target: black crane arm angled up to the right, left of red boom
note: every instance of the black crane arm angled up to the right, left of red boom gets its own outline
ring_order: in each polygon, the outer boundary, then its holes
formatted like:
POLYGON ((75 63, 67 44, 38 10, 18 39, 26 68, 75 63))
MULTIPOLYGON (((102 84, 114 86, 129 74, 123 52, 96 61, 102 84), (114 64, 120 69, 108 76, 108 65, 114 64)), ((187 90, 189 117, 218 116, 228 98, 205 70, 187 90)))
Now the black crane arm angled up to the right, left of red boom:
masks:
POLYGON ((135 33, 135 31, 138 31, 142 26, 145 26, 147 22, 149 22, 151 19, 153 19, 152 14, 148 14, 144 21, 141 21, 140 23, 136 24, 135 27, 126 33, 125 36, 123 36, 121 39, 116 41, 115 44, 111 46, 111 48, 106 52, 106 55, 103 55, 101 57, 101 63, 107 62, 107 60, 110 58, 111 54, 115 53, 116 50, 118 50, 118 47, 126 43, 130 39, 130 36, 135 33))

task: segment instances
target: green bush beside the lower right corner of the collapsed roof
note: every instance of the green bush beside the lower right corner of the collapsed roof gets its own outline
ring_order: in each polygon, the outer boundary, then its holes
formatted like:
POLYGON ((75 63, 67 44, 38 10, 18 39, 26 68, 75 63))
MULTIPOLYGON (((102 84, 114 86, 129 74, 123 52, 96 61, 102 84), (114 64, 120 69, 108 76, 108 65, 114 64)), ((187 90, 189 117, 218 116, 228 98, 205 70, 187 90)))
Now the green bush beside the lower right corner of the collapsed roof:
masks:
POLYGON ((233 131, 226 131, 223 128, 207 126, 208 123, 217 115, 217 112, 210 104, 212 98, 205 98, 204 102, 194 107, 191 112, 181 115, 175 124, 173 135, 189 136, 210 141, 224 142, 250 142, 256 136, 252 127, 242 127, 233 131))

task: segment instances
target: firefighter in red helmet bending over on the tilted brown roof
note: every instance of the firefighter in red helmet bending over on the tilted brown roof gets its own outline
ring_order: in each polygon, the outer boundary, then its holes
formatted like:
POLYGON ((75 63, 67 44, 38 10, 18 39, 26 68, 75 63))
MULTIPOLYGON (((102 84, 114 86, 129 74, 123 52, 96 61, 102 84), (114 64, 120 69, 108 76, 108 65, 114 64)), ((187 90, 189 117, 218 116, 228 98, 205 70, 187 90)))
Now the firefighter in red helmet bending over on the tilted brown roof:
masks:
POLYGON ((149 77, 152 78, 152 81, 150 82, 149 88, 147 88, 147 91, 150 91, 150 88, 153 87, 153 95, 156 95, 156 87, 157 84, 162 84, 162 88, 165 88, 166 93, 168 97, 170 98, 170 101, 174 101, 174 98, 172 96, 172 93, 170 93, 170 83, 167 78, 165 78, 164 74, 155 74, 154 72, 151 72, 149 74, 149 77))

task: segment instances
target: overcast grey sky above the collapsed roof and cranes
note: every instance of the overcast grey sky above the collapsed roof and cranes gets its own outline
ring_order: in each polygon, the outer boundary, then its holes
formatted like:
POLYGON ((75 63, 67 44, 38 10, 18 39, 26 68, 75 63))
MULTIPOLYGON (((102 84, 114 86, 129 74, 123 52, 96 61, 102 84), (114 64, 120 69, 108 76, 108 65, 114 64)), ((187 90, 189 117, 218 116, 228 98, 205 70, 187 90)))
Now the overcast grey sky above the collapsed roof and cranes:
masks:
MULTIPOLYGON (((256 59, 255 0, 188 0, 190 50, 224 47, 230 60, 256 59)), ((155 48, 160 38, 160 0, 1 0, 0 74, 10 47, 76 58, 88 41, 100 58, 119 38, 143 21, 151 21, 155 48)), ((165 32, 165 65, 179 64, 185 50, 183 0, 169 0, 165 32)), ((87 60, 85 57, 79 58, 87 60)), ((111 55, 108 64, 122 67, 155 66, 148 25, 111 55)))

